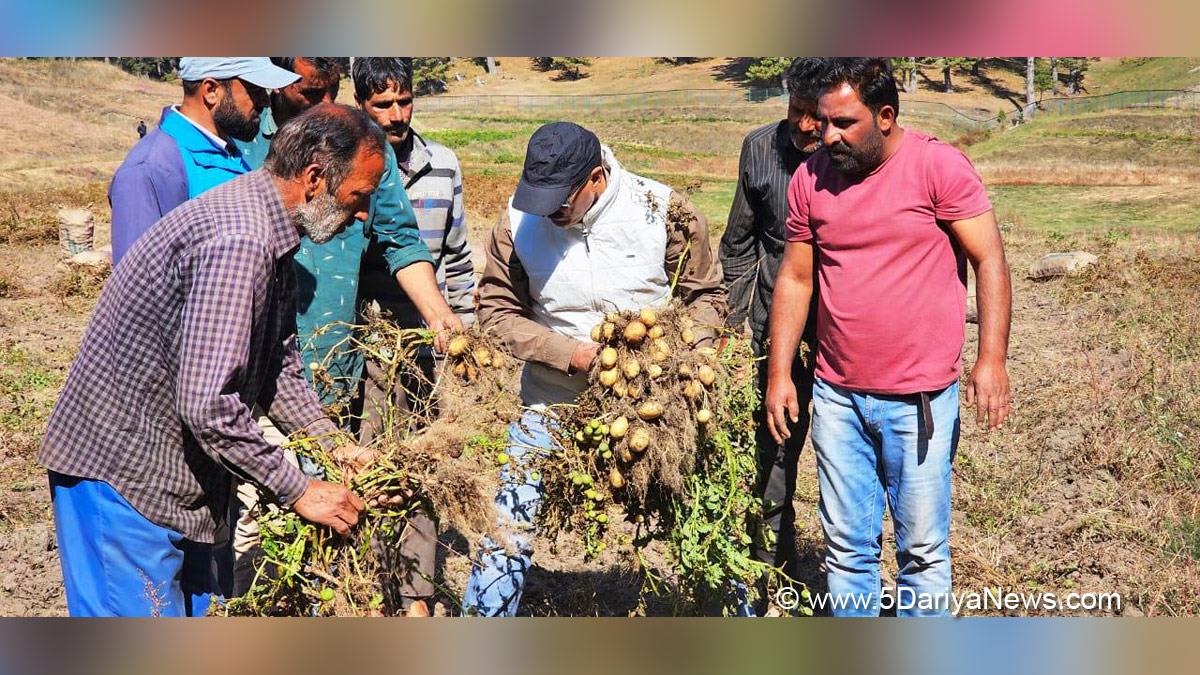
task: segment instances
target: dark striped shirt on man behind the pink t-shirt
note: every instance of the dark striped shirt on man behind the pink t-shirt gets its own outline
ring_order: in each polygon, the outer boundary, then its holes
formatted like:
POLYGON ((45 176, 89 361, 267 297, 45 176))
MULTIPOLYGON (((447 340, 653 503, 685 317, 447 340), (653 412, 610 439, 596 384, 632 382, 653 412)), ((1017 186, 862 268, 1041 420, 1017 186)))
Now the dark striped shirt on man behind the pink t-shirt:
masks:
MULTIPOLYGON (((775 276, 784 259, 787 184, 809 157, 792 143, 787 120, 761 126, 742 143, 738 185, 719 256, 730 294, 727 323, 740 328, 746 318, 756 347, 767 336, 775 276)), ((816 303, 809 313, 805 339, 816 330, 816 303)))

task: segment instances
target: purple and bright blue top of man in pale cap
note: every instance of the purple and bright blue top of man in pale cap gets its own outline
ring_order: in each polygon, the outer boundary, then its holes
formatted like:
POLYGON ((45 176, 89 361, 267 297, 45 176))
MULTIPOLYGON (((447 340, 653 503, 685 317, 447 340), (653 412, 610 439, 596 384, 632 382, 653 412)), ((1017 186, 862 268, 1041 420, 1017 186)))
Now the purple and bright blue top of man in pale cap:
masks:
POLYGON ((133 145, 108 189, 113 264, 172 209, 248 171, 235 144, 163 108, 158 129, 133 145))

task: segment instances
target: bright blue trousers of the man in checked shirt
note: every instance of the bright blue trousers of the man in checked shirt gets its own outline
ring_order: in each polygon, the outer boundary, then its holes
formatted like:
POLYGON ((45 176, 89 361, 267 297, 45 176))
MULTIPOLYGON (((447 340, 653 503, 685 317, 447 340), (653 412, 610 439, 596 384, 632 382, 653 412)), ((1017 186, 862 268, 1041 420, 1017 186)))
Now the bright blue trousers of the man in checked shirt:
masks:
POLYGON ((102 480, 50 472, 54 531, 71 616, 204 616, 212 545, 137 512, 102 480))

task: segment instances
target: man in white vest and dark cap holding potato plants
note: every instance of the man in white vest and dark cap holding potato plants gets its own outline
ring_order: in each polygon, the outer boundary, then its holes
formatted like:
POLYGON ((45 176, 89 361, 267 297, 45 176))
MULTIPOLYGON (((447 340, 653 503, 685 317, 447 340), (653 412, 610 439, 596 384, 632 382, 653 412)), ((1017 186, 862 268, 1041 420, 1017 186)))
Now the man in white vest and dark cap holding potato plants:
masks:
POLYGON ((479 319, 526 362, 521 399, 530 410, 509 430, 511 464, 496 500, 511 519, 512 540, 480 546, 463 610, 504 616, 521 602, 533 554, 528 528, 541 501, 524 459, 552 447, 551 406, 587 387, 600 351, 592 327, 610 311, 666 305, 679 269, 674 295, 707 329, 700 334, 712 336, 724 321, 725 292, 704 216, 671 187, 622 168, 594 133, 571 123, 547 124, 529 139, 486 253, 479 319), (682 217, 668 222, 668 213, 682 217))

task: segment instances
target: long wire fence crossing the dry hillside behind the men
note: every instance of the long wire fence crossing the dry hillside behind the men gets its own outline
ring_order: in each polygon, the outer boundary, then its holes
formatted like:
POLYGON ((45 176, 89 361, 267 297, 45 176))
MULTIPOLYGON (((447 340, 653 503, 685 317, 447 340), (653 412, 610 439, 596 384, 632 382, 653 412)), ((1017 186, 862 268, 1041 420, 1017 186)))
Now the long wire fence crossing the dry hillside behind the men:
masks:
MULTIPOLYGON (((466 115, 504 115, 517 118, 588 118, 612 114, 666 114, 698 117, 706 114, 731 119, 774 119, 779 117, 786 91, 764 89, 673 89, 635 94, 502 94, 439 95, 421 98, 422 112, 466 115)), ((1043 98, 1033 106, 1010 112, 988 108, 955 108, 937 101, 904 98, 900 114, 935 118, 959 131, 989 130, 1018 124, 1040 114, 1080 114, 1128 108, 1200 109, 1200 91, 1154 89, 1117 91, 1100 96, 1043 98)))

